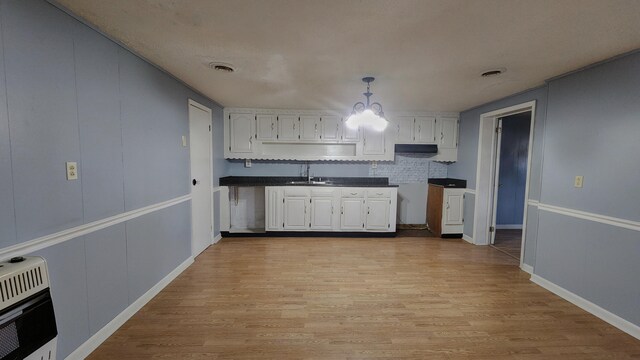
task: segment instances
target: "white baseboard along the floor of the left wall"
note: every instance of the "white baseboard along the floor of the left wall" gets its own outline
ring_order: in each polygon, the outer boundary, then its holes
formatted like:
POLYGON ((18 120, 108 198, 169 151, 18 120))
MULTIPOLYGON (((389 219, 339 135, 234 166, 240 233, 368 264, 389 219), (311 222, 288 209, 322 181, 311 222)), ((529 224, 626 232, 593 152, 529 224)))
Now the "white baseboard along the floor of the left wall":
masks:
POLYGON ((145 306, 154 296, 164 289, 171 281, 193 264, 193 257, 189 257, 182 264, 178 265, 172 272, 165 276, 160 282, 149 289, 146 293, 124 309, 118 316, 113 318, 107 325, 95 333, 89 340, 80 345, 74 352, 65 358, 65 360, 82 360, 89 356, 95 349, 100 346, 109 336, 113 335, 127 320, 145 306))

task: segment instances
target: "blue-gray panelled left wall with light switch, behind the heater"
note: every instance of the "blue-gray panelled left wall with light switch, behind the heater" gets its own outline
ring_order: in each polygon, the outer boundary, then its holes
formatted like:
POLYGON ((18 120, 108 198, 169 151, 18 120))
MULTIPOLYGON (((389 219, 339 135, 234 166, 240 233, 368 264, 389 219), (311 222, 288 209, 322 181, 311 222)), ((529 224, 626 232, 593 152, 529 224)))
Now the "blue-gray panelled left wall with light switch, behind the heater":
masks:
MULTIPOLYGON (((0 250, 189 194, 188 99, 213 110, 217 184, 219 105, 43 0, 0 0, 0 250)), ((190 216, 183 202, 35 253, 59 359, 189 258, 190 216)))

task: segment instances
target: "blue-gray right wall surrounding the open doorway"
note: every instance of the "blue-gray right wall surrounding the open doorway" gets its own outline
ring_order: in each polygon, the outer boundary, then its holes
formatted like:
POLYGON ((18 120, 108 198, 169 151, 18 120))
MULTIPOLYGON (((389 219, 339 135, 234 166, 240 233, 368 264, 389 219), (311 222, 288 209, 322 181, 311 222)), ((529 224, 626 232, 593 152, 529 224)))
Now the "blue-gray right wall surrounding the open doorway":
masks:
MULTIPOLYGON (((524 262, 534 274, 638 326, 640 283, 633 275, 640 273, 638 231, 544 205, 640 221, 639 93, 640 53, 635 52, 465 111, 459 161, 449 167, 449 176, 466 178, 475 188, 480 115, 537 100, 529 199, 538 200, 541 209, 527 208, 524 262), (573 186, 576 175, 584 176, 583 188, 573 186)), ((472 232, 473 224, 465 223, 465 234, 472 232)))

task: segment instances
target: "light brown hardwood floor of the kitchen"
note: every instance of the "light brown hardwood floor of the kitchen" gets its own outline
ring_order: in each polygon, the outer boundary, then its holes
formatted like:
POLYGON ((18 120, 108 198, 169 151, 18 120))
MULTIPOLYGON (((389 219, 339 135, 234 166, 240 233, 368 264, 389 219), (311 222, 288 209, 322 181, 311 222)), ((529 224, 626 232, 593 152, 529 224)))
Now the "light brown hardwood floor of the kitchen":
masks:
POLYGON ((517 264, 458 239, 223 239, 89 358, 640 358, 517 264))

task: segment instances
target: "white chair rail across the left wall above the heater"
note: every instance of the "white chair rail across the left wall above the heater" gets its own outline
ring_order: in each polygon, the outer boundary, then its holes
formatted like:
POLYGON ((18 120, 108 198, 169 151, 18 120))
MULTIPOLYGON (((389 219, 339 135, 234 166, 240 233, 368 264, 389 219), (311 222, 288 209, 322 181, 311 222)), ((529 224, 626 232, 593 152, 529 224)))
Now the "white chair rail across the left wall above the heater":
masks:
POLYGON ((191 195, 183 195, 171 200, 163 201, 161 203, 145 206, 136 210, 127 211, 118 215, 114 215, 101 220, 93 221, 84 225, 76 226, 71 229, 59 231, 54 234, 45 235, 33 240, 25 241, 20 244, 8 246, 0 249, 0 259, 8 259, 14 256, 22 256, 34 251, 42 250, 49 246, 60 244, 62 242, 77 238, 78 236, 87 235, 92 232, 108 228, 131 219, 135 219, 139 216, 152 213, 164 208, 168 208, 173 205, 183 203, 191 200, 191 195))

